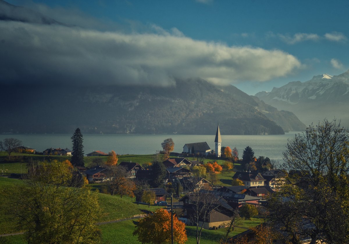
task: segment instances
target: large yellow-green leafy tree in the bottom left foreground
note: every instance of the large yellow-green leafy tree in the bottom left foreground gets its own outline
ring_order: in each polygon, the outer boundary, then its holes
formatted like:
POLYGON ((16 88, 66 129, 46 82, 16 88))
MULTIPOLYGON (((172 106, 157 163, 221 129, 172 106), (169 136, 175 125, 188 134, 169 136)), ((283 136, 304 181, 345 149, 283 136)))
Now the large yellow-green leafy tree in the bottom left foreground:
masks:
POLYGON ((67 187, 72 179, 68 163, 32 164, 27 177, 15 185, 9 213, 26 230, 28 243, 99 243, 98 193, 67 187))

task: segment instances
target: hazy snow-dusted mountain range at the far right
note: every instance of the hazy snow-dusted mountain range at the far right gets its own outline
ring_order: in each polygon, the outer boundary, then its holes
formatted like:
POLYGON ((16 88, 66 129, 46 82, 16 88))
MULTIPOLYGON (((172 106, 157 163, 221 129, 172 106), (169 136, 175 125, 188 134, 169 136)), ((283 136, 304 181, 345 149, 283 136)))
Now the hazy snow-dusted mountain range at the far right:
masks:
POLYGON ((292 111, 307 125, 327 118, 349 126, 349 71, 333 76, 315 75, 309 81, 290 82, 255 96, 277 109, 292 111))

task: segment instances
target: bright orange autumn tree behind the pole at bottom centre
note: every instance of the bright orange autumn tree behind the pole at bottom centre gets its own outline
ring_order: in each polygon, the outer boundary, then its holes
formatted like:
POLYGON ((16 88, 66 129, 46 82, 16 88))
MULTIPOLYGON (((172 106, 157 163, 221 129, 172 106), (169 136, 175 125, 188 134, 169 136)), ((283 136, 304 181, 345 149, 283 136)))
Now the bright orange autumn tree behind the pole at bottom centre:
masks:
MULTIPOLYGON (((141 243, 171 243, 171 214, 164 208, 156 210, 154 215, 139 221, 133 235, 137 235, 141 243)), ((185 224, 173 216, 173 241, 184 244, 187 239, 185 224)))

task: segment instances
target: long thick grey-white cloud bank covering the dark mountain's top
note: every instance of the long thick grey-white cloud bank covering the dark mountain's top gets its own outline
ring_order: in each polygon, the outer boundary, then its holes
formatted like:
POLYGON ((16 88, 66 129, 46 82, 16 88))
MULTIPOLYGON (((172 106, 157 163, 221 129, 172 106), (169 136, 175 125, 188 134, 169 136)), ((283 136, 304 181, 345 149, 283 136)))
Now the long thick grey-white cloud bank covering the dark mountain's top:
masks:
POLYGON ((201 77, 227 84, 267 81, 301 66, 280 50, 227 46, 177 29, 125 34, 0 21, 0 82, 154 84, 201 77))

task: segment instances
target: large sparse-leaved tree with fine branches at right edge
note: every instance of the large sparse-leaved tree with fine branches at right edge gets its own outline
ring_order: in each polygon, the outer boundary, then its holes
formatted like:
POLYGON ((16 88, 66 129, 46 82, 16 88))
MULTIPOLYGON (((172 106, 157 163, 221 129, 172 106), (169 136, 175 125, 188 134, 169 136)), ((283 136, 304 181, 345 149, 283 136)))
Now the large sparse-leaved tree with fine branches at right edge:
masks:
POLYGON ((271 220, 292 242, 298 236, 310 236, 313 244, 321 236, 326 243, 347 243, 348 130, 335 120, 312 124, 303 135, 288 141, 283 159, 289 174, 268 200, 271 220))

